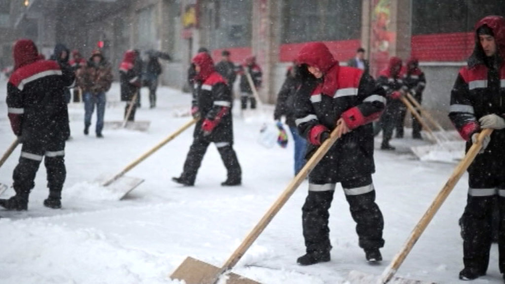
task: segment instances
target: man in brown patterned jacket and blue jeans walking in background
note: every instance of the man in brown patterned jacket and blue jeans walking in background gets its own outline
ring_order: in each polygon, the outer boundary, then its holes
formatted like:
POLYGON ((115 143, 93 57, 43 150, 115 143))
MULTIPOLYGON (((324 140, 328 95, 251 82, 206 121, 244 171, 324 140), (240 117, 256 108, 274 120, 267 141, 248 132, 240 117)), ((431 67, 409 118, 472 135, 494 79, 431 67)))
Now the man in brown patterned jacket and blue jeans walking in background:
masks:
POLYGON ((99 51, 93 51, 87 65, 77 71, 79 86, 84 93, 84 134, 89 134, 91 115, 96 105, 96 137, 103 138, 105 92, 111 88, 111 66, 99 51))

